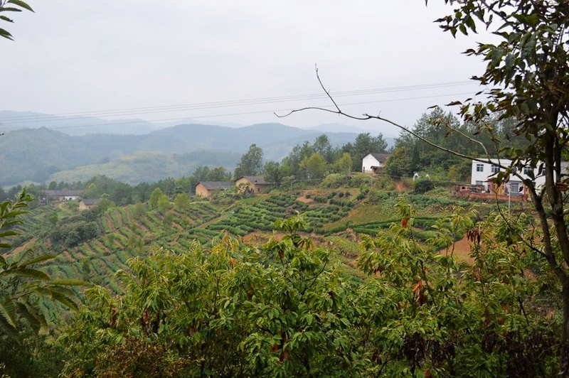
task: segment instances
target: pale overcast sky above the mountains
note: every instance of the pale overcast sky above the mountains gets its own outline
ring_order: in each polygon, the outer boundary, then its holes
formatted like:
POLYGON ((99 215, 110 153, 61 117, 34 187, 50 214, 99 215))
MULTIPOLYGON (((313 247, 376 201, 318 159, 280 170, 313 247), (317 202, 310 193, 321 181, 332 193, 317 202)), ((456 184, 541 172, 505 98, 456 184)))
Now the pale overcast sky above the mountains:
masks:
MULTIPOLYGON (((398 135, 432 105, 472 97, 477 41, 443 33, 442 0, 28 0, 1 22, 0 110, 290 126, 349 124, 398 135), (336 94, 336 96, 335 96, 336 94)), ((117 128, 120 125, 117 124, 117 128)))

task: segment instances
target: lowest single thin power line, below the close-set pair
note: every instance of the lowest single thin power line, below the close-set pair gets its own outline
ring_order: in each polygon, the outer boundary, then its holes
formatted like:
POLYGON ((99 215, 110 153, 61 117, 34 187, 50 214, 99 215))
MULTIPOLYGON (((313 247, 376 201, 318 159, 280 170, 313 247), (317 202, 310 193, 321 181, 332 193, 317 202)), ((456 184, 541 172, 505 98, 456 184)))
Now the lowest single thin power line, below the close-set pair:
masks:
MULTIPOLYGON (((462 95, 472 95, 472 92, 462 92, 462 93, 452 93, 447 95, 431 95, 431 96, 420 96, 420 97, 405 97, 400 99, 381 99, 376 101, 366 101, 366 102, 349 102, 344 104, 338 104, 340 107, 348 107, 353 105, 361 105, 361 104, 377 104, 380 102, 397 102, 397 101, 409 101, 413 99, 430 99, 430 98, 437 98, 437 97, 449 97, 449 96, 462 96, 462 95)), ((319 107, 323 109, 334 108, 332 105, 314 105, 313 107, 319 107)), ((290 112, 294 109, 298 108, 289 108, 289 109, 273 109, 273 110, 259 110, 256 112, 236 112, 236 113, 225 113, 225 114, 208 114, 208 115, 201 115, 201 116, 192 116, 191 118, 199 119, 199 118, 212 118, 212 117, 228 117, 228 116, 238 116, 238 115, 245 115, 245 114, 261 114, 261 113, 279 113, 279 112, 290 112)), ((90 125, 76 125, 76 126, 57 126, 51 127, 50 129, 78 129, 81 127, 96 127, 96 126, 113 126, 113 125, 120 125, 120 124, 136 124, 142 122, 160 122, 160 121, 177 121, 181 119, 186 119, 187 117, 178 117, 178 118, 166 118, 166 119, 149 119, 149 120, 142 120, 142 121, 122 121, 122 122, 114 122, 114 123, 105 123, 105 124, 90 124, 90 125)))

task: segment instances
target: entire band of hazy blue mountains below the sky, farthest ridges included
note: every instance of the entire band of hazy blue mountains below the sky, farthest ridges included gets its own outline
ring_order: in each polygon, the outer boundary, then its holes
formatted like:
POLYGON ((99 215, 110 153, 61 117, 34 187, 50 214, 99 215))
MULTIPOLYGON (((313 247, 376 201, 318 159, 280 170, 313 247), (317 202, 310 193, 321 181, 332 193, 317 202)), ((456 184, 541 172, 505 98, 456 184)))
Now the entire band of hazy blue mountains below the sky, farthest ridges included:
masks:
MULTIPOLYGON (((179 124, 155 129, 153 124, 134 120, 130 124, 133 131, 131 134, 73 135, 68 131, 86 131, 90 127, 95 127, 97 131, 101 128, 112 130, 113 125, 100 126, 102 120, 92 118, 89 122, 97 126, 83 127, 79 124, 87 122, 87 119, 78 121, 57 117, 60 123, 55 124, 59 125, 59 129, 46 126, 36 128, 32 119, 35 113, 24 113, 0 112, 3 124, 6 124, 6 119, 18 119, 19 122, 10 124, 17 125, 17 129, 0 128, 0 132, 4 132, 0 136, 0 185, 3 186, 26 180, 37 183, 50 180, 84 181, 95 174, 105 174, 135 184, 190 175, 197 166, 223 166, 228 171, 233 171, 241 154, 248 151, 251 144, 262 148, 265 160, 280 161, 297 144, 312 142, 321 134, 326 134, 332 145, 341 146, 353 141, 359 132, 366 132, 337 124, 299 129, 277 123, 239 128, 179 124), (24 125, 28 128, 23 128, 24 125), (334 131, 326 131, 329 129, 334 131), (339 130, 350 132, 338 132, 339 130)), ((45 117, 43 119, 45 122, 45 117)), ((129 129, 130 126, 125 128, 125 124, 121 124, 121 131, 129 129)), ((385 139, 393 145, 392 138, 385 139)))

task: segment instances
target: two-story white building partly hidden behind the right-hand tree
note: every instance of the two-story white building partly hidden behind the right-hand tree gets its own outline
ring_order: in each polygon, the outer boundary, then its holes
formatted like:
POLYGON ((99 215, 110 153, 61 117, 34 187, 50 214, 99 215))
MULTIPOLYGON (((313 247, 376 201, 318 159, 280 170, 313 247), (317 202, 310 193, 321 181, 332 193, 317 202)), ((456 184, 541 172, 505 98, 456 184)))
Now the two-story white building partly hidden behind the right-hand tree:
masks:
MULTIPOLYGON (((526 188, 523 185, 523 182, 516 175, 510 175, 509 180, 500 186, 497 186, 490 181, 490 179, 500 171, 499 164, 502 166, 509 166, 511 160, 490 159, 490 161, 490 163, 480 163, 475 160, 472 161, 472 174, 470 178, 471 185, 482 185, 484 186, 484 190, 488 193, 510 193, 511 195, 526 194, 526 188)), ((531 170, 531 167, 523 167, 523 171, 519 172, 519 175, 521 175, 521 178, 526 179, 528 178, 528 173, 531 172, 531 170)), ((533 182, 536 183, 537 188, 546 183, 546 177, 541 174, 539 167, 533 169, 533 176, 535 177, 533 182)))

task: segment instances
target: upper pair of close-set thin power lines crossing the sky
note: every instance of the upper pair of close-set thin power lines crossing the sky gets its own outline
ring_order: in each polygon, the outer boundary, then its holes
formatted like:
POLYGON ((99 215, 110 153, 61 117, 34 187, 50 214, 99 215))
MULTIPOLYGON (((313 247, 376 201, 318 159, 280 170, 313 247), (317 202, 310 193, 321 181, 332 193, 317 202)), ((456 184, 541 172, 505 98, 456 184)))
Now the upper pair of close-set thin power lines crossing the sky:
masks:
MULTIPOLYGON (((439 82, 425 85, 408 85, 402 87, 385 87, 375 88, 369 90, 351 90, 344 92, 331 92, 335 98, 348 97, 348 96, 362 96, 362 95, 376 95, 383 93, 403 92, 412 90, 432 90, 437 88, 458 87, 464 85, 477 85, 472 81, 461 82, 439 82)), ((230 100, 223 102, 201 102, 196 104, 180 104, 180 105, 165 105, 159 107, 138 107, 127 109, 111 109, 111 110, 98 110, 90 112, 73 112, 73 113, 59 113, 59 114, 46 114, 41 116, 13 116, 13 117, 0 117, 0 121, 10 124, 27 123, 31 121, 55 121, 60 117, 65 117, 65 120, 85 119, 86 117, 124 117, 137 114, 152 114, 152 113, 165 113, 165 112, 181 112, 188 110, 201 110, 201 109, 215 109, 220 107, 242 107, 257 104, 272 104, 275 102, 292 102, 308 99, 323 99, 326 94, 313 94, 313 95, 292 95, 285 97, 262 97, 256 99, 240 99, 230 100), (77 117, 68 117, 77 116, 77 117)))

